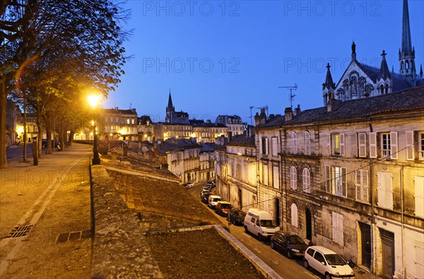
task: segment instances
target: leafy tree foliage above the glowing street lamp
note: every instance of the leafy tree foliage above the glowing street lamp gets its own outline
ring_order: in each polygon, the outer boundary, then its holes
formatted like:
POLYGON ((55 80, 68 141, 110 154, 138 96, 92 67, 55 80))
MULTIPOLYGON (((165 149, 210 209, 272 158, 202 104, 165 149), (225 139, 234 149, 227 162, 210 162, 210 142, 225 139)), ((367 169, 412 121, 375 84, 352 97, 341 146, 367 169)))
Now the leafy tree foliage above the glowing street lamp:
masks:
MULTIPOLYGON (((123 2, 3 0, 0 15, 2 114, 9 94, 25 92, 46 121, 59 103, 65 115, 87 89, 107 97, 120 82, 129 35, 123 2)), ((6 167, 5 141, 0 121, 0 168, 6 167)))

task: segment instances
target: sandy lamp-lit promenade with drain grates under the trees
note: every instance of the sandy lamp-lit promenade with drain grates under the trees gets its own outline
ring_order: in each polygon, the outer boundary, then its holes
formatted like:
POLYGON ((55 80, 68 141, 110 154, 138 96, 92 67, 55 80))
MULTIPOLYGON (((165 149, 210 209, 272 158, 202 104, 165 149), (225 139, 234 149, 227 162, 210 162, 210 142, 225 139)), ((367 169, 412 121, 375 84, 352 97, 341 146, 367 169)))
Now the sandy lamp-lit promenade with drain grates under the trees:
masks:
POLYGON ((90 277, 90 152, 74 143, 0 170, 0 278, 90 277))

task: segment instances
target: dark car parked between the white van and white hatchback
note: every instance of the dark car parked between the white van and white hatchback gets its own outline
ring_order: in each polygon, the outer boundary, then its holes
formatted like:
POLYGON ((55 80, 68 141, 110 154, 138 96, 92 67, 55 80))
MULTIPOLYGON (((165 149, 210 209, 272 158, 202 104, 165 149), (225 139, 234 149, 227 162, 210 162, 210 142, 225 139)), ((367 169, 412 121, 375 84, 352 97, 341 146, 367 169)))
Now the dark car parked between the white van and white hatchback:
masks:
POLYGON ((271 248, 280 250, 288 259, 293 259, 293 256, 305 254, 307 244, 298 235, 280 230, 271 237, 271 248))

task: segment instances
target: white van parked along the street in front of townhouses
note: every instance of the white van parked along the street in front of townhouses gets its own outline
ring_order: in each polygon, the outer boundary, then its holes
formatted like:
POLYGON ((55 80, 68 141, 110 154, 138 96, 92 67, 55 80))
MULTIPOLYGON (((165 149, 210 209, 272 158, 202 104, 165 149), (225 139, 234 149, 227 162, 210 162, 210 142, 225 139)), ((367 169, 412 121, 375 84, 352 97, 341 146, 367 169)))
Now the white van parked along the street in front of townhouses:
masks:
POLYGON ((280 230, 276 226, 272 215, 258 208, 250 208, 247 211, 244 226, 245 232, 251 232, 253 235, 257 235, 259 240, 272 237, 276 231, 280 230))

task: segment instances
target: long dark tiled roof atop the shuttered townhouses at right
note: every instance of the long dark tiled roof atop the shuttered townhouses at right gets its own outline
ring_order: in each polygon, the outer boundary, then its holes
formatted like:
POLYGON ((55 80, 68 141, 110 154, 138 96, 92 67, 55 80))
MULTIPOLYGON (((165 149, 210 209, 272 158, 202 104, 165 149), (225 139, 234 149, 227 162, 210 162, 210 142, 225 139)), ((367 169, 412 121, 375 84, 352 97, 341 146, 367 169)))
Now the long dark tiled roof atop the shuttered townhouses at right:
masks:
POLYGON ((331 112, 327 107, 307 109, 285 122, 284 116, 274 117, 266 124, 260 124, 255 129, 276 127, 283 124, 301 124, 323 121, 336 121, 340 119, 355 119, 377 116, 388 112, 404 112, 412 109, 424 109, 424 86, 411 88, 387 95, 368 97, 358 100, 331 100, 333 102, 331 112))

